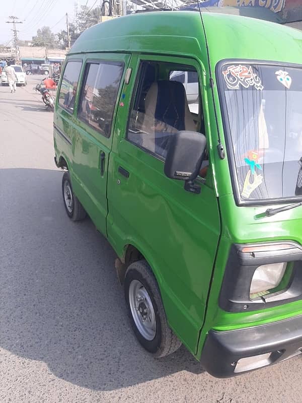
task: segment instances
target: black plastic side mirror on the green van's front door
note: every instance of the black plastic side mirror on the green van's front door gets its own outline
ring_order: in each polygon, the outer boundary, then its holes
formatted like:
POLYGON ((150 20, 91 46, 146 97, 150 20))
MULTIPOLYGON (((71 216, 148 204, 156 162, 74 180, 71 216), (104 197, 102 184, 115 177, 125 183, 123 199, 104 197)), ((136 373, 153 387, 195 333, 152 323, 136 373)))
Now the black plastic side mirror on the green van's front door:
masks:
POLYGON ((169 138, 164 172, 168 178, 185 180, 185 189, 200 193, 195 186, 196 179, 204 158, 206 138, 196 131, 178 131, 169 138))

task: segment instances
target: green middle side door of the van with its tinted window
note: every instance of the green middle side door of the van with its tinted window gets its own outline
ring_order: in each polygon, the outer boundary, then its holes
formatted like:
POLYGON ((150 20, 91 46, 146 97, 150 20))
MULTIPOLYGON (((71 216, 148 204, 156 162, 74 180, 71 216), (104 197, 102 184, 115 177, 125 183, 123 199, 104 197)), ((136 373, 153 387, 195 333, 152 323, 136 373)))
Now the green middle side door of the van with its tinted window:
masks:
POLYGON ((74 191, 85 210, 104 235, 106 231, 107 174, 120 83, 129 55, 89 55, 73 124, 74 191))

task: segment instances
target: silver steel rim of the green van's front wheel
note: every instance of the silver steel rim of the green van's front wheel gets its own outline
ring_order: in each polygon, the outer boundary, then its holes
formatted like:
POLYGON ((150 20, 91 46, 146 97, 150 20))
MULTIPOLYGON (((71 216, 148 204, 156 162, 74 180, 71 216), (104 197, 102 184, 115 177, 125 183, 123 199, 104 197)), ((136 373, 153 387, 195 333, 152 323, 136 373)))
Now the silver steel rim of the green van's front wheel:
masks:
POLYGON ((147 290, 138 280, 132 280, 130 283, 129 305, 134 323, 142 337, 153 340, 156 335, 155 310, 147 290))

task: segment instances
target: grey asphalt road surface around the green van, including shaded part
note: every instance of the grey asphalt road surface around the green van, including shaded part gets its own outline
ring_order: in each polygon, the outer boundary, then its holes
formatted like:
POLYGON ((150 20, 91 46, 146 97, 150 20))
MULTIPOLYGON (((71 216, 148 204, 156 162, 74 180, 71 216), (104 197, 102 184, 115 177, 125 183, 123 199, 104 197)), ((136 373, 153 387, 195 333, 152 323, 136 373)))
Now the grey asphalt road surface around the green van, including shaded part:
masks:
POLYGON ((38 79, 0 87, 0 402, 300 403, 300 357, 221 380, 138 345, 114 251, 64 211, 38 79))

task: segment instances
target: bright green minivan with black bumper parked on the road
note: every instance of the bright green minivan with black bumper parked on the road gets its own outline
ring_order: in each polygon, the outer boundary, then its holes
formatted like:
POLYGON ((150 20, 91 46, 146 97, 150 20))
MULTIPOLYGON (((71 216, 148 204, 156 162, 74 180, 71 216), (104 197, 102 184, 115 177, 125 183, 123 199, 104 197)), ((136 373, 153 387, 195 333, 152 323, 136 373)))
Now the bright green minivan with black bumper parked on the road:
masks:
POLYGON ((184 344, 217 377, 302 352, 302 32, 195 11, 95 25, 64 63, 54 149, 148 352, 184 344))

